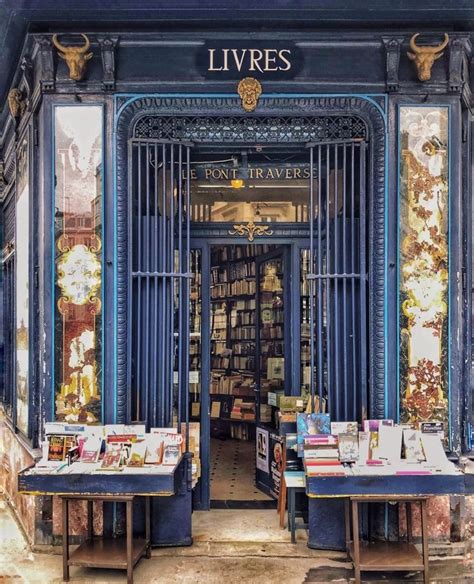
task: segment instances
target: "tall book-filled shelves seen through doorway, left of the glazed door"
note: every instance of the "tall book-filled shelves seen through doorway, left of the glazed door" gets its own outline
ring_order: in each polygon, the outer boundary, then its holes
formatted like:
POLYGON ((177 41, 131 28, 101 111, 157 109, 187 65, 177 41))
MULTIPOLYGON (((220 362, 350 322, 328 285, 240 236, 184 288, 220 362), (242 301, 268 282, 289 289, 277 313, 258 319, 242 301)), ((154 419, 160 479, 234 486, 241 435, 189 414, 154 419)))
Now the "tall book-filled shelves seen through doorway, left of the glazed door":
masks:
POLYGON ((211 254, 211 434, 241 440, 255 438, 255 249, 224 246, 211 254))

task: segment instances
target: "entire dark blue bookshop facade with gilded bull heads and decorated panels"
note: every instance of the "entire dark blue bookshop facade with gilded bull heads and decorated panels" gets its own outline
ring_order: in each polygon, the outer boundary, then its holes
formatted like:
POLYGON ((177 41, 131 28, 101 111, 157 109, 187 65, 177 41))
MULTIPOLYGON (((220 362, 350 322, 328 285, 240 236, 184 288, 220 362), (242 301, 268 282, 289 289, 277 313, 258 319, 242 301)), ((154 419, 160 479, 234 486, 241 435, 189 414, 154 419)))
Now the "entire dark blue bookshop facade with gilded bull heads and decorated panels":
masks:
MULTIPOLYGON (((2 481, 30 540, 61 532, 17 486, 52 422, 185 437, 157 545, 271 506, 298 412, 472 454, 470 34, 88 30, 26 34, 0 118, 2 481)), ((439 497, 433 537, 472 507, 439 497)))

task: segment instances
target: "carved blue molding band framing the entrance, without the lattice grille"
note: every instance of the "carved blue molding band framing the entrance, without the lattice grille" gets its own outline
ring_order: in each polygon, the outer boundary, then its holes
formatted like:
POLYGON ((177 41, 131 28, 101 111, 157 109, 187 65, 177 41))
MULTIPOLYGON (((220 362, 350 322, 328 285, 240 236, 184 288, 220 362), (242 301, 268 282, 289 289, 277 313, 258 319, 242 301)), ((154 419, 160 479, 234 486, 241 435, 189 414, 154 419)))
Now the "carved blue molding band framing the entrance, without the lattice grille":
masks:
MULTIPOLYGON (((120 103, 124 104, 121 98, 120 103)), ((143 97, 131 101, 116 120, 117 209, 117 422, 128 417, 128 139, 142 116, 237 116, 243 115, 240 99, 143 97)), ((254 114, 244 114, 251 119, 254 114)), ((369 415, 384 417, 385 407, 385 120, 380 109, 361 97, 261 98, 260 116, 357 115, 370 132, 369 200, 370 241, 370 362, 369 415)), ((276 236, 277 234, 275 234, 276 236)), ((275 237, 274 236, 274 237, 275 237)))

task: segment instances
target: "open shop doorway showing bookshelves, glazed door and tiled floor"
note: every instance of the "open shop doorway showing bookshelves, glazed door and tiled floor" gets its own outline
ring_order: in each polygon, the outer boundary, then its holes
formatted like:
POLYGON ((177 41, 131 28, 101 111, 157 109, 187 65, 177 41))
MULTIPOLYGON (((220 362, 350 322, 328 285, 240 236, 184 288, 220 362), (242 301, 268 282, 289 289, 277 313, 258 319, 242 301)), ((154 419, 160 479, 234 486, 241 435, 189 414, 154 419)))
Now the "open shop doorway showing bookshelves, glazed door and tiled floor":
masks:
POLYGON ((272 396, 291 393, 291 246, 210 244, 205 253, 209 317, 200 326, 209 389, 191 389, 190 399, 192 420, 209 428, 211 506, 268 506, 283 454, 272 396))

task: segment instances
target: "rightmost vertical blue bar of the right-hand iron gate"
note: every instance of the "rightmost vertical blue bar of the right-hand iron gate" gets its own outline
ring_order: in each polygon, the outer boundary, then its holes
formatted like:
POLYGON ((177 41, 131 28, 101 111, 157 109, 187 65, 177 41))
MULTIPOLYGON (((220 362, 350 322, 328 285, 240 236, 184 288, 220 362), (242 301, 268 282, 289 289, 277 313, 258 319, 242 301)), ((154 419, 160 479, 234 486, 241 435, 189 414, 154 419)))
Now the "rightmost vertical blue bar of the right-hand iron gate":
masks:
POLYGON ((359 159, 359 254, 360 254, 360 399, 362 412, 367 412, 367 330, 366 330, 366 220, 365 220, 365 193, 366 193, 366 143, 360 143, 360 159, 359 159))

